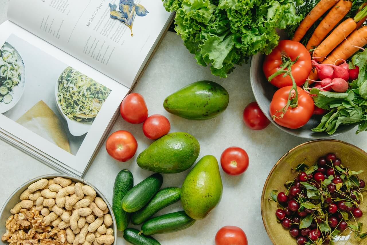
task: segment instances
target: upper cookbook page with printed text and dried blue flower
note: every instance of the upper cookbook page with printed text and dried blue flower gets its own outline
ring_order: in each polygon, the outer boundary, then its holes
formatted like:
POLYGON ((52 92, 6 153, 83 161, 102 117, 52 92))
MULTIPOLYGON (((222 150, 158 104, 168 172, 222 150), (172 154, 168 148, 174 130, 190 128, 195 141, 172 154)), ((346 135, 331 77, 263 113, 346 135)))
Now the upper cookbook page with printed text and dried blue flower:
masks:
POLYGON ((11 0, 8 18, 130 88, 171 19, 160 0, 11 0))

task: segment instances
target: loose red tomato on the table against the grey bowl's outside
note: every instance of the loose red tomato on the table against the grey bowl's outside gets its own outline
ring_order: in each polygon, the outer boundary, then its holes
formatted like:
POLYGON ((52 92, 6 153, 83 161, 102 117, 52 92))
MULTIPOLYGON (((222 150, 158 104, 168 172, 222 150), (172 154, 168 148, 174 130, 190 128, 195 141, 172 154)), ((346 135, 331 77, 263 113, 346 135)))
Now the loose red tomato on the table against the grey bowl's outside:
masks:
POLYGON ((243 121, 247 127, 254 130, 264 129, 268 127, 270 123, 256 102, 251 102, 245 107, 243 111, 243 121))

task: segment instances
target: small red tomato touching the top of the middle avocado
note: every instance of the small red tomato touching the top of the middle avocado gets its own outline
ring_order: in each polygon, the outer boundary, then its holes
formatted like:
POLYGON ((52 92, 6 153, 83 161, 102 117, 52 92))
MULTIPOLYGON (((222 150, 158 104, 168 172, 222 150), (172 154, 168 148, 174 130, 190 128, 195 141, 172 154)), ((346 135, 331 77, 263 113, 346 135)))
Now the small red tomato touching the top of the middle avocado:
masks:
POLYGON ((148 139, 158 139, 168 134, 171 124, 168 119, 160 114, 154 114, 148 117, 143 123, 143 132, 148 139))

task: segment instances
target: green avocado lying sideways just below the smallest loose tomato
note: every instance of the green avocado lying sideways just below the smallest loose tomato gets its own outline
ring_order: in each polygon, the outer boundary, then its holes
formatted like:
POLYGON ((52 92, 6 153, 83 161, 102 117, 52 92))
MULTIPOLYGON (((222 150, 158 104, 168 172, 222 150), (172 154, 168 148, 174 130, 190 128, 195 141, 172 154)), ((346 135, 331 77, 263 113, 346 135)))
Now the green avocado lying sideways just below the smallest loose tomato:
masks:
POLYGON ((156 173, 173 174, 185 171, 195 163, 200 145, 194 136, 171 133, 157 139, 137 158, 139 167, 156 173))

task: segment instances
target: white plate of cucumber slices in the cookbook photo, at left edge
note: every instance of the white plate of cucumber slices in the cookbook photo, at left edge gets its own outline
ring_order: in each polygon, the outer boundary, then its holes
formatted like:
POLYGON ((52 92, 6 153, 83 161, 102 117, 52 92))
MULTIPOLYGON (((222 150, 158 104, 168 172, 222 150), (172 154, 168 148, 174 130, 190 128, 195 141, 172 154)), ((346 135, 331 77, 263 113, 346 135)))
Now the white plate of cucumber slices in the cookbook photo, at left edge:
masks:
MULTIPOLYGON (((14 88, 12 88, 10 93, 8 93, 7 95, 1 95, 3 97, 3 101, 0 103, 0 114, 3 114, 7 112, 8 110, 12 109, 19 102, 19 100, 21 99, 23 95, 24 88, 25 88, 25 66, 24 66, 24 62, 23 62, 21 55, 18 53, 18 50, 15 49, 15 47, 13 47, 8 42, 5 42, 4 45, 0 47, 0 49, 3 47, 14 50, 14 56, 16 57, 15 60, 21 65, 20 67, 21 74, 20 74, 19 84, 15 85, 14 88), (8 95, 10 95, 11 97, 8 95), (5 96, 7 96, 7 98, 5 96)), ((1 65, 1 63, 3 63, 2 55, 0 59, 1 59, 1 62, 0 62, 0 70, 1 70, 1 67, 3 66, 1 65)))

